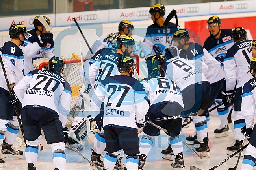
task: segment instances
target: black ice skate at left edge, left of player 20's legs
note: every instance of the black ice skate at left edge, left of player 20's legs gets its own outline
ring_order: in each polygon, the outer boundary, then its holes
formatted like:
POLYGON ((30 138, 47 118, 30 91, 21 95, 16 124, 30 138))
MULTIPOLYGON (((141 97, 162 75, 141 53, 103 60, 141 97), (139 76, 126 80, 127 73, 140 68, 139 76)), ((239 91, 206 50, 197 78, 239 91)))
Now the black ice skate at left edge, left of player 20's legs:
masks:
POLYGON ((5 142, 3 143, 1 152, 2 155, 0 158, 2 159, 21 159, 23 157, 23 151, 17 150, 13 147, 13 145, 5 142))

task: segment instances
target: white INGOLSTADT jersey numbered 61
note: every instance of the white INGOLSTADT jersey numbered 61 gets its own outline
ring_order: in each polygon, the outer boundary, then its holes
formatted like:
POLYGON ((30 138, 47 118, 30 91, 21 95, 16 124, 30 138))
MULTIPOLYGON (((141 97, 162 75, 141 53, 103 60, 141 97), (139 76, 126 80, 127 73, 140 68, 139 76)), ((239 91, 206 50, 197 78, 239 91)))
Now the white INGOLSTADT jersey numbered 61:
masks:
POLYGON ((164 77, 141 80, 150 101, 150 107, 164 103, 173 103, 184 108, 182 94, 176 84, 164 77))

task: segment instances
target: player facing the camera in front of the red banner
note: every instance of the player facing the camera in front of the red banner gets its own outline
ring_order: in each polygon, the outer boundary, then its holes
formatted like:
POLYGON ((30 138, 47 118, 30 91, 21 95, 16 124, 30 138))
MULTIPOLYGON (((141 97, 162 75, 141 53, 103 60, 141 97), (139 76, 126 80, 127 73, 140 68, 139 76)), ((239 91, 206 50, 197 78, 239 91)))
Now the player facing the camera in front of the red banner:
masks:
MULTIPOLYGON (((221 29, 221 19, 218 16, 211 16, 207 21, 210 36, 204 42, 204 48, 223 66, 223 60, 226 51, 234 45, 232 38, 232 29, 221 29)), ((221 104, 221 91, 226 88, 226 80, 211 84, 211 93, 215 102, 221 104), (223 84, 223 85, 222 85, 223 84), (217 97, 216 97, 217 95, 217 97)), ((224 137, 228 135, 228 107, 220 106, 217 108, 221 124, 214 133, 215 137, 224 137)))

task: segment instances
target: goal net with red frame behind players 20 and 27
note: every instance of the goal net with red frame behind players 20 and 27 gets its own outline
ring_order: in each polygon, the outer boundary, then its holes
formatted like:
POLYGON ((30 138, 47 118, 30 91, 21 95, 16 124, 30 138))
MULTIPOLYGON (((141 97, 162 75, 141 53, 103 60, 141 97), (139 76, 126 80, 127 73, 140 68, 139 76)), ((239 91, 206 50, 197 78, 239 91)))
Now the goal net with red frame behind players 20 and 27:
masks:
MULTIPOLYGON (((89 58, 93 57, 93 55, 84 55, 83 60, 88 60, 89 58)), ((137 73, 139 73, 139 56, 138 55, 132 55, 132 58, 134 58, 137 64, 137 73)), ((72 94, 71 94, 71 103, 70 103, 70 113, 67 116, 67 127, 72 126, 72 122, 74 118, 83 110, 81 109, 82 106, 82 98, 80 97, 80 94, 78 93, 78 90, 83 85, 83 78, 81 76, 79 67, 81 66, 81 60, 74 60, 72 56, 68 57, 61 57, 64 60, 65 63, 65 69, 62 77, 69 82, 72 94)), ((37 60, 33 61, 33 69, 48 69, 48 61, 50 58, 39 58, 37 60)))

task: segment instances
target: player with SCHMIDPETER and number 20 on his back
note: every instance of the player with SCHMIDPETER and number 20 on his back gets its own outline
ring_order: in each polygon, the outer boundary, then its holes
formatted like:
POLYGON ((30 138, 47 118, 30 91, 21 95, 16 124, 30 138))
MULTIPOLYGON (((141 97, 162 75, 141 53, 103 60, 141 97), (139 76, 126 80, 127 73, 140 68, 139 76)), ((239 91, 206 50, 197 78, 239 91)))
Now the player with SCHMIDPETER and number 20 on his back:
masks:
POLYGON ((70 112, 72 91, 69 83, 61 76, 63 69, 62 58, 54 56, 49 60, 49 70, 30 71, 14 87, 14 92, 22 103, 28 170, 36 169, 41 128, 47 144, 52 148, 55 170, 66 169, 65 143, 69 132, 65 124, 70 112))

